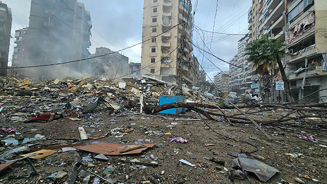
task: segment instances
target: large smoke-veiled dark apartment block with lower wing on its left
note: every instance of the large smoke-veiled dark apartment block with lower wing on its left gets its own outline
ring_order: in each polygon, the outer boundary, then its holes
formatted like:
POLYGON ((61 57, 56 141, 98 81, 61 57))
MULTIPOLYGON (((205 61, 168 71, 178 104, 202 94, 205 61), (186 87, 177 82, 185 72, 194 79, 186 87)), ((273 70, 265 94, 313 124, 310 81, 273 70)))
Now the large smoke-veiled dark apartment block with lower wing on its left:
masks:
POLYGON ((76 0, 32 1, 29 27, 16 30, 13 76, 42 80, 86 73, 87 61, 42 68, 16 67, 87 58, 91 28, 90 12, 85 10, 83 3, 76 0))

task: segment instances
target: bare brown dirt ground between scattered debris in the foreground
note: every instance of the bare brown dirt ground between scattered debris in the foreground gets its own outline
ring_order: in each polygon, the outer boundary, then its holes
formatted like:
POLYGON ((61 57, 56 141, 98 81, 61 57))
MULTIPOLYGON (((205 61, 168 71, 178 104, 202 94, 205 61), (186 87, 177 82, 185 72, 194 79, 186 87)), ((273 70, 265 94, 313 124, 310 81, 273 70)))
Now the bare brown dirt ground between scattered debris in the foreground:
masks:
MULTIPOLYGON (((196 112, 186 112, 178 116, 162 114, 167 118, 182 118, 182 119, 200 119, 196 112)), ((259 114, 252 114, 255 120, 262 120, 265 118, 280 117, 280 113, 265 112, 265 116, 259 114)), ((206 118, 203 117, 205 121, 206 118)), ((46 140, 38 140, 29 144, 38 144, 36 146, 49 146, 60 144, 72 144, 73 141, 55 140, 64 138, 80 139, 78 127, 83 126, 86 133, 92 135, 100 134, 107 135, 98 140, 84 140, 78 141, 83 145, 91 144, 92 142, 112 142, 112 143, 126 143, 133 144, 139 139, 143 139, 142 143, 150 139, 150 143, 155 143, 156 146, 143 151, 141 154, 124 155, 124 156, 107 156, 110 158, 107 162, 82 162, 86 169, 96 172, 97 174, 110 179, 118 179, 116 183, 140 183, 141 181, 150 180, 151 183, 249 183, 245 180, 230 181, 226 177, 226 172, 220 172, 219 166, 203 157, 217 157, 218 160, 225 162, 225 168, 228 172, 232 173, 235 169, 231 168, 231 162, 235 158, 227 155, 228 151, 235 152, 250 152, 255 150, 253 146, 246 143, 240 143, 233 140, 226 139, 225 137, 215 133, 207 127, 202 121, 190 120, 163 120, 161 117, 148 117, 140 115, 125 115, 121 117, 110 116, 107 117, 105 112, 97 112, 87 114, 81 118, 81 121, 71 121, 67 117, 55 120, 48 123, 23 123, 12 121, 3 118, 0 120, 0 126, 5 127, 8 125, 16 128, 20 135, 15 135, 15 138, 34 137, 35 134, 45 135, 46 140), (177 123, 177 125, 171 125, 177 123), (123 137, 115 137, 110 135, 110 130, 116 127, 125 127, 127 129, 134 129, 133 131, 125 134, 123 137), (31 129, 39 129, 37 132, 31 132, 31 129), (162 133, 170 132, 171 135, 148 135, 146 131, 160 131, 162 133), (188 143, 171 143, 168 141, 170 137, 182 137, 187 139, 188 143), (52 138, 52 140, 50 140, 52 138), (215 144, 217 146, 205 146, 205 144, 215 144), (193 154, 191 154, 193 153, 193 154), (157 160, 151 159, 151 155, 157 157, 157 160), (191 158, 192 157, 192 158, 191 158), (122 159, 123 158, 123 159, 122 159), (126 160, 124 159, 126 158, 126 160), (133 167, 135 164, 130 160, 147 159, 158 162, 158 167, 149 167, 145 169, 136 169, 133 167), (179 159, 185 159, 188 162, 196 165, 191 167, 180 163, 179 159), (115 168, 112 174, 103 174, 104 169, 112 166, 115 168), (131 167, 132 166, 132 167, 131 167), (216 168, 218 166, 218 168, 216 168)), ((225 121, 213 122, 207 121, 208 125, 220 134, 227 137, 234 137, 237 140, 247 141, 256 147, 258 151, 253 154, 247 154, 251 159, 255 155, 264 157, 261 162, 279 170, 271 179, 266 183, 277 183, 281 178, 288 182, 297 183, 294 178, 299 177, 305 183, 327 183, 327 148, 319 145, 326 145, 327 134, 324 131, 314 131, 311 129, 279 129, 277 127, 263 126, 273 138, 269 141, 267 137, 254 125, 240 124, 238 126, 230 126, 225 121), (315 135, 318 143, 313 143, 308 140, 299 139, 297 135, 315 135), (249 139, 254 137, 256 140, 249 139), (286 155, 286 153, 302 153, 298 157, 286 155), (308 175, 309 178, 304 176, 308 175), (312 179, 317 179, 318 182, 312 179)), ((15 133, 1 132, 1 139, 5 139, 7 135, 15 133)), ((18 146, 10 146, 1 148, 1 154, 18 146)), ((46 179, 46 176, 52 173, 72 170, 72 165, 82 157, 90 156, 91 158, 98 155, 86 151, 76 150, 61 152, 44 157, 39 160, 31 159, 35 165, 39 175, 31 177, 23 177, 13 179, 21 175, 28 175, 33 170, 26 160, 16 162, 11 165, 9 169, 0 173, 0 183, 63 183, 65 178, 52 181, 46 179)), ((16 159, 13 157, 12 159, 16 159)), ((221 169, 221 168, 220 168, 221 169)), ((92 175, 89 183, 93 183, 96 176, 92 175)), ((249 179, 252 183, 262 183, 254 174, 249 174, 249 179)), ((82 178, 78 178, 76 183, 81 183, 82 178)), ((107 183, 101 179, 100 183, 107 183)))

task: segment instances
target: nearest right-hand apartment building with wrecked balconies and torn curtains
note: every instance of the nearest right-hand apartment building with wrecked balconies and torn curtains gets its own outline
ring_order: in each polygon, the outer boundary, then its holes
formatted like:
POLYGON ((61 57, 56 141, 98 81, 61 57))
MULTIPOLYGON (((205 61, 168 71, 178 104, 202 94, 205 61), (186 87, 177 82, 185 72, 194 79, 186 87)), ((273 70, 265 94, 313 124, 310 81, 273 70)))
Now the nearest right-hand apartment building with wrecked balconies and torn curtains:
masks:
MULTIPOLYGON (((326 22, 326 1, 288 1, 284 61, 294 100, 327 88, 326 22)), ((319 91, 311 99, 316 99, 313 102, 317 103, 319 97, 326 95, 326 91, 319 91)), ((282 99, 288 101, 285 93, 282 99)), ((327 101, 326 98, 320 100, 327 101)))

